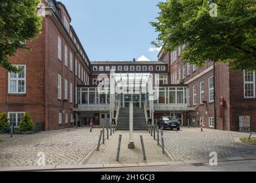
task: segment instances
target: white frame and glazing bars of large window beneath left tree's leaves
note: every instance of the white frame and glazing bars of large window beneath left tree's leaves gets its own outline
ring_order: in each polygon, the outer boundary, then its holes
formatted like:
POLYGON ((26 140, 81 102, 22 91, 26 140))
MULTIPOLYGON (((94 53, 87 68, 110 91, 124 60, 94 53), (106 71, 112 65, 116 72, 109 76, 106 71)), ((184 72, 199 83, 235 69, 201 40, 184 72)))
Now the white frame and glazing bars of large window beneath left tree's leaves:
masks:
POLYGON ((9 94, 26 94, 26 65, 13 65, 15 67, 24 67, 24 78, 18 78, 19 73, 13 73, 15 78, 11 78, 11 73, 8 73, 8 93, 9 94), (10 91, 11 81, 16 81, 16 92, 10 91), (18 81, 24 81, 24 92, 18 92, 18 81))

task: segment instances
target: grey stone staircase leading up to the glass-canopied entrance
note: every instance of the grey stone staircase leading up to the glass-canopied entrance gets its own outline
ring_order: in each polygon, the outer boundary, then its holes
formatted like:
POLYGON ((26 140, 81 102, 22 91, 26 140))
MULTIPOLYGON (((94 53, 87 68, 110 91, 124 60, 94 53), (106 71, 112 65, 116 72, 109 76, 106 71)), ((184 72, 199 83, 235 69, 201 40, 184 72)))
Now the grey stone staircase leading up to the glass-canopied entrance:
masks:
MULTIPOLYGON (((146 130, 144 109, 133 109, 133 130, 146 130)), ((129 108, 121 108, 117 121, 117 130, 129 130, 129 108)))

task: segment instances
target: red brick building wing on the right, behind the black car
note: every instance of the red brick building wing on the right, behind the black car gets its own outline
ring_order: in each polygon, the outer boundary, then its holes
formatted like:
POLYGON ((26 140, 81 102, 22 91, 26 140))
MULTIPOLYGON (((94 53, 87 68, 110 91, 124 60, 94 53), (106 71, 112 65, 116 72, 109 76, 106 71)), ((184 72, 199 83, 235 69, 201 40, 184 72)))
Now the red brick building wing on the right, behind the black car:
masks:
MULTIPOLYGON (((255 71, 231 71, 229 63, 214 65, 207 61, 203 67, 183 64, 176 51, 158 55, 169 63, 170 83, 188 87, 188 106, 195 111, 184 113, 184 125, 220 130, 249 130, 239 128, 239 118, 250 118, 250 130, 256 130, 255 71)), ((245 120, 245 122, 247 122, 245 120)))

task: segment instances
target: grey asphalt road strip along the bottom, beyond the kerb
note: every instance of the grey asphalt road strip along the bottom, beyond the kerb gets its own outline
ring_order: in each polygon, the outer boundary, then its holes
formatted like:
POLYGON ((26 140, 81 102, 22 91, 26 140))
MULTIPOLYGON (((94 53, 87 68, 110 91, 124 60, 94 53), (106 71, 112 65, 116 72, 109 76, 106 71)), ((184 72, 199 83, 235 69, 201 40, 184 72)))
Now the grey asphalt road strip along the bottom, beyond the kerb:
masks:
MULTIPOLYGON (((59 172, 59 171, 57 171, 59 172)), ((62 170, 61 172, 256 172, 256 160, 219 162, 218 166, 168 165, 133 168, 62 170)))

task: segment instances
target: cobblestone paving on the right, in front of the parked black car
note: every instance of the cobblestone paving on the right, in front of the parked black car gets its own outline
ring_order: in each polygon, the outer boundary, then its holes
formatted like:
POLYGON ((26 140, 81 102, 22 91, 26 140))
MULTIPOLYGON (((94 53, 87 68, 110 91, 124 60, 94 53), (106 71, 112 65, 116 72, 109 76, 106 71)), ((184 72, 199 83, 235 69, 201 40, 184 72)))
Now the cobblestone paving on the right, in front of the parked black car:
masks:
POLYGON ((245 157, 256 158, 256 146, 234 142, 234 137, 249 135, 245 133, 199 128, 181 128, 180 132, 164 130, 165 147, 172 161, 210 158, 216 152, 218 158, 245 157))

